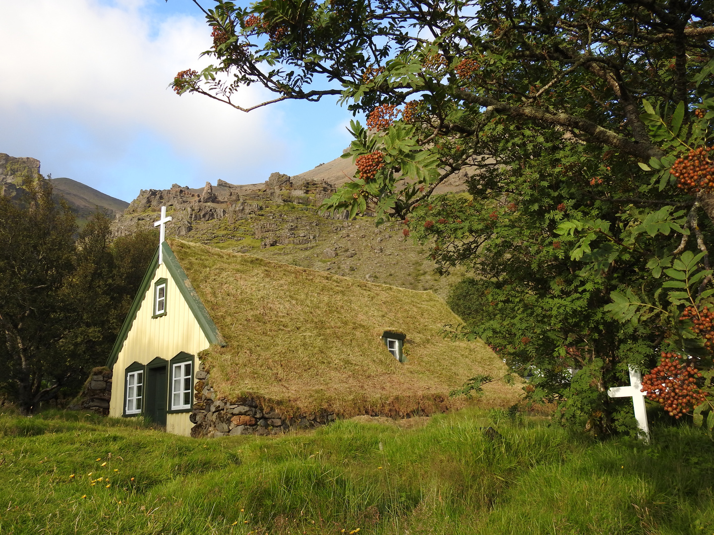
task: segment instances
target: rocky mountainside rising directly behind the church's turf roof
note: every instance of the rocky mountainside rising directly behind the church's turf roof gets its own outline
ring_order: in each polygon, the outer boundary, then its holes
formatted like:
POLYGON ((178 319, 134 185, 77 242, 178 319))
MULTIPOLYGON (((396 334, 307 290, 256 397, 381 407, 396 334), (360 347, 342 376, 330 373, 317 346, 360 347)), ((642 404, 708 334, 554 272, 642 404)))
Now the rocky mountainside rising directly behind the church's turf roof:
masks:
MULTIPOLYGON (((427 248, 405 238, 398 223, 376 228, 368 216, 347 220, 346 212, 318 213, 322 200, 355 171, 350 160, 337 158, 295 176, 273 173, 258 184, 218 180, 203 188, 141 190, 116 219, 116 234, 150 228, 166 205, 173 218, 166 232, 183 240, 445 296, 463 273, 436 275, 427 248)), ((463 190, 463 176, 457 176, 438 193, 463 190)))

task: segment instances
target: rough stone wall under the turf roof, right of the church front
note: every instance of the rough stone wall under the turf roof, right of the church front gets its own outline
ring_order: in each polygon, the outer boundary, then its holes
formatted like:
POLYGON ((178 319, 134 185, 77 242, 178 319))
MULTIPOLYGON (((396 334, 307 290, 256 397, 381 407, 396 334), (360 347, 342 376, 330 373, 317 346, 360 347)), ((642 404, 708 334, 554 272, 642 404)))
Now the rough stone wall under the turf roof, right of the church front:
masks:
POLYGON ((225 437, 237 434, 279 434, 291 429, 313 429, 336 419, 328 412, 286 417, 280 412, 263 412, 255 399, 216 399, 210 377, 198 362, 194 385, 191 437, 225 437))

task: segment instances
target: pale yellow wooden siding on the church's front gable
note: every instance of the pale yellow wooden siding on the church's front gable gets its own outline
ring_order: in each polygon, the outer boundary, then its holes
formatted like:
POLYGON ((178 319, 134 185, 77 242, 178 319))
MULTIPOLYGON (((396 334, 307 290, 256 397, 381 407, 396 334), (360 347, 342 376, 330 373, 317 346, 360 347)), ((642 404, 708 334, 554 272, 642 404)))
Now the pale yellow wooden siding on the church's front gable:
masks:
MULTIPOLYGON (((109 415, 118 418, 124 413, 124 370, 133 362, 147 364, 156 357, 171 360, 181 351, 198 355, 198 352, 207 349, 208 345, 206 335, 193 317, 166 265, 159 265, 114 364, 109 415), (168 280, 166 315, 152 318, 154 282, 161 278, 168 280)), ((189 434, 192 424, 188 420, 188 414, 190 412, 167 414, 166 430, 176 434, 189 434)))

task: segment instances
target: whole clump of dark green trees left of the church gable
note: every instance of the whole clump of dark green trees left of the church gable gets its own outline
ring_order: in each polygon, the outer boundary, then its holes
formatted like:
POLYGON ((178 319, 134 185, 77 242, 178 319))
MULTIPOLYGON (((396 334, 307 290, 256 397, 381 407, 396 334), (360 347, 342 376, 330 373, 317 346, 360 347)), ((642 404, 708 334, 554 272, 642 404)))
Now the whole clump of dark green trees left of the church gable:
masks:
POLYGON ((19 200, 0 197, 0 393, 31 413, 74 397, 106 361, 156 240, 137 233, 112 243, 102 213, 76 234, 49 180, 23 188, 19 200))

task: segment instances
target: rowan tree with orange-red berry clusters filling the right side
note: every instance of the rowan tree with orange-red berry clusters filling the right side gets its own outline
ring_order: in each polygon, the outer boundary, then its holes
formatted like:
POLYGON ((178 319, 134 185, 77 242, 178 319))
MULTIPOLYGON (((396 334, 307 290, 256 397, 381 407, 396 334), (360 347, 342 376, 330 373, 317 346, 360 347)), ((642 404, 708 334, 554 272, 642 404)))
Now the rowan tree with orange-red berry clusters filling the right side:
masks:
POLYGON ((442 270, 472 269, 471 332, 533 374, 533 399, 607 431, 622 402, 604 391, 628 363, 665 350, 711 365, 680 315, 714 292, 713 13, 711 0, 219 0, 213 64, 174 88, 241 111, 337 96, 366 116, 345 155, 358 173, 324 208, 401 219, 442 270), (275 98, 237 102, 251 83, 275 98), (469 195, 434 195, 464 172, 469 195))

